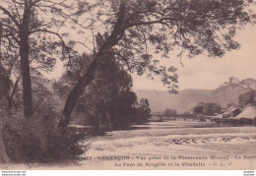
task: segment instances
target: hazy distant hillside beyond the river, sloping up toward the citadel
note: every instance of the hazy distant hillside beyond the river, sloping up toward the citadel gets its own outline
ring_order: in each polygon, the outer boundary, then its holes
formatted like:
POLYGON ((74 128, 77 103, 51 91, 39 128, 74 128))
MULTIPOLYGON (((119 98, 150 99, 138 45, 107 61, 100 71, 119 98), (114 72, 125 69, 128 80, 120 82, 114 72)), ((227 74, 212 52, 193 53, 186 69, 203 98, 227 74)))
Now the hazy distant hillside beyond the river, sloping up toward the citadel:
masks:
POLYGON ((192 111, 198 102, 215 102, 222 107, 229 103, 238 103, 238 96, 251 88, 238 84, 229 84, 217 89, 184 89, 179 94, 169 94, 162 90, 135 89, 138 97, 150 100, 153 112, 162 112, 166 108, 176 109, 178 113, 192 111))

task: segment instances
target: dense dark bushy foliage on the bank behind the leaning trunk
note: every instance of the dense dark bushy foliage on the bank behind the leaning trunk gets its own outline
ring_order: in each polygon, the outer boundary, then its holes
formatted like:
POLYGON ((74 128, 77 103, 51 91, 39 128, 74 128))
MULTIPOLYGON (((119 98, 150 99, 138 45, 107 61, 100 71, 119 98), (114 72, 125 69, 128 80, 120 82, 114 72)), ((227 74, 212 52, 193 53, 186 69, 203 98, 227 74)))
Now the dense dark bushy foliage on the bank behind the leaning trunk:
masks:
MULTIPOLYGON (((76 64, 55 84, 59 93, 65 94, 75 84, 92 56, 78 56, 76 64), (67 90, 66 90, 67 89, 67 90)), ((145 121, 150 116, 148 99, 137 103, 137 95, 131 90, 132 78, 113 55, 99 65, 96 78, 86 89, 76 106, 76 111, 89 118, 98 131, 122 129, 133 122, 145 121)))

